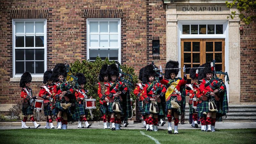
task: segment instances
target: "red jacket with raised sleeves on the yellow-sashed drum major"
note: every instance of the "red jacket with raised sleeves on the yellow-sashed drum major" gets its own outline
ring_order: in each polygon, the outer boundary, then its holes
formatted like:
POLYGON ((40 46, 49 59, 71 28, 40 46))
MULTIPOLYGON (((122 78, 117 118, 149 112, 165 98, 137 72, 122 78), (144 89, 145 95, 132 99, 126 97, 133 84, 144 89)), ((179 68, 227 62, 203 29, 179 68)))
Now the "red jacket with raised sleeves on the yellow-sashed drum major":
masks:
POLYGON ((165 95, 165 100, 169 100, 171 96, 179 96, 177 92, 180 92, 180 87, 187 83, 187 80, 184 80, 184 78, 175 78, 175 79, 163 79, 163 77, 159 77, 160 83, 166 85, 167 91, 169 90, 169 87, 172 85, 172 83, 179 80, 178 84, 176 85, 175 89, 176 91, 173 91, 170 95, 165 95), (172 82, 173 81, 173 82, 172 82))

